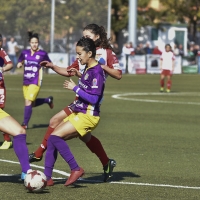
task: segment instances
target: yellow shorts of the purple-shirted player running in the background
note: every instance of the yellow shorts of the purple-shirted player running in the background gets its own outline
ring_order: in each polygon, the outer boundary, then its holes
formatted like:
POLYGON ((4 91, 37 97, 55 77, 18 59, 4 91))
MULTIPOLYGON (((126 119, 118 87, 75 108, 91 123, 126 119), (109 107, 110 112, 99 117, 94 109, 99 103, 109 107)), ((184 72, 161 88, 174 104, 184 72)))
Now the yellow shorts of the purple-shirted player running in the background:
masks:
POLYGON ((40 91, 40 87, 37 85, 34 85, 34 84, 23 85, 24 99, 35 101, 38 96, 39 91, 40 91))

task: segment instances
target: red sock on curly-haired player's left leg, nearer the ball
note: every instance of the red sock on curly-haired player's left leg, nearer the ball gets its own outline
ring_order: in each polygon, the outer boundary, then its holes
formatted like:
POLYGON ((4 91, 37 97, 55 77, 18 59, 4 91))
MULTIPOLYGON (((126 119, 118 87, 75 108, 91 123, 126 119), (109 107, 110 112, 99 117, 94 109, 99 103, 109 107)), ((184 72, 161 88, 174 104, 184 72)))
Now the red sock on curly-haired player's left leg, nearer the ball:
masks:
POLYGON ((39 146, 39 148, 34 152, 35 157, 40 158, 42 157, 43 153, 47 149, 47 140, 51 133, 54 131, 54 128, 51 128, 50 126, 47 128, 47 132, 45 133, 44 139, 42 140, 42 144, 39 146))

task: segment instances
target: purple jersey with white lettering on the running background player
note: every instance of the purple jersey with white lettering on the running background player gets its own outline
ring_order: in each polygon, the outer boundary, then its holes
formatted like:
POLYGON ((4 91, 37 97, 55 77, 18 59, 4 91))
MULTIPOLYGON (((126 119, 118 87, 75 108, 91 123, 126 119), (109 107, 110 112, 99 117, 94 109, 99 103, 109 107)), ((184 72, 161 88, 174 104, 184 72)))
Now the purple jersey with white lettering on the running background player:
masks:
POLYGON ((24 63, 24 81, 23 85, 38 85, 41 86, 43 68, 40 66, 42 61, 49 61, 47 52, 38 50, 32 54, 31 49, 23 50, 19 56, 18 62, 24 63))

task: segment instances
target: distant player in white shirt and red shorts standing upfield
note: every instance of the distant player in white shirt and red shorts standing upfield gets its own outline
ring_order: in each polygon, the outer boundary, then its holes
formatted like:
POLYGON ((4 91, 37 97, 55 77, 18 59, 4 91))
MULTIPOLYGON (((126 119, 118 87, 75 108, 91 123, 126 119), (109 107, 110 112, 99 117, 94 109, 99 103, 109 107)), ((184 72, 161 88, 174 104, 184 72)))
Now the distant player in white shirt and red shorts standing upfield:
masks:
POLYGON ((160 57, 160 69, 161 69, 161 76, 160 76, 160 92, 164 91, 165 85, 165 77, 167 77, 167 89, 166 92, 171 91, 171 76, 174 71, 174 60, 175 56, 171 51, 171 45, 165 45, 165 51, 162 53, 160 57))

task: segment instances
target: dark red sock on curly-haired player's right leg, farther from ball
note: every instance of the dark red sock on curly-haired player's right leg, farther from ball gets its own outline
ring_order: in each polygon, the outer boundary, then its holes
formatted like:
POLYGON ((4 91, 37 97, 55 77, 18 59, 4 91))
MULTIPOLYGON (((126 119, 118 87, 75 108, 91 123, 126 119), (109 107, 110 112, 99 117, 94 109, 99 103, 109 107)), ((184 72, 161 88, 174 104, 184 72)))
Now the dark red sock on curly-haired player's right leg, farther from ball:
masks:
POLYGON ((96 137, 92 135, 90 141, 87 142, 86 145, 92 153, 97 155, 103 166, 108 164, 109 158, 106 155, 101 142, 96 137))

